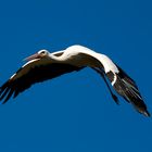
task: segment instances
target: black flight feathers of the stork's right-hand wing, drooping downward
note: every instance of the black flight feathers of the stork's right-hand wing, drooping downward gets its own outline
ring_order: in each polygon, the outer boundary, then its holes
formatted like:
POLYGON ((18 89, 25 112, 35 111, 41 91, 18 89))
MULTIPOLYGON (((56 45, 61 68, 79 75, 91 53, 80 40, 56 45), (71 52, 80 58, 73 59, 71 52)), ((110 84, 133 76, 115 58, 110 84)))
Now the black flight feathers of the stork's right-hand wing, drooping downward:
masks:
POLYGON ((135 80, 131 79, 121 67, 118 67, 118 71, 119 73, 115 74, 116 81, 113 84, 116 92, 131 103, 139 113, 150 116, 135 80))

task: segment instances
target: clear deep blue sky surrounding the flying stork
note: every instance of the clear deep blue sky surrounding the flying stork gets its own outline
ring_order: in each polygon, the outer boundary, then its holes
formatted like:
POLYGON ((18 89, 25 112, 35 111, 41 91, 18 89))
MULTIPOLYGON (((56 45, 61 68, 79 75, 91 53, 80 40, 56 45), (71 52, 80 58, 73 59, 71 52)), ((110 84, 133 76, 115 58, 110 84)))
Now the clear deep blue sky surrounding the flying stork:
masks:
MULTIPOLYGON (((0 84, 29 54, 79 43, 129 73, 152 112, 151 8, 151 0, 0 1, 0 84)), ((152 151, 152 119, 119 100, 89 68, 35 85, 0 105, 0 151, 152 151)))

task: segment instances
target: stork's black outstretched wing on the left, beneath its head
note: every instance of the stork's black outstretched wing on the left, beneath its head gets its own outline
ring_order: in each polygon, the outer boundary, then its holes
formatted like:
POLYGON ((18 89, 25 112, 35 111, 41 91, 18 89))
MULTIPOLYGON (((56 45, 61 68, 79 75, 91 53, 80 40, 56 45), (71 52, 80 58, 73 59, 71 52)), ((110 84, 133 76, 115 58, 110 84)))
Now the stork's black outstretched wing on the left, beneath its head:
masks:
POLYGON ((12 96, 14 98, 17 97, 18 93, 36 83, 52 79, 81 68, 84 67, 69 64, 45 63, 41 60, 29 61, 0 87, 0 100, 4 100, 3 103, 5 103, 12 96))

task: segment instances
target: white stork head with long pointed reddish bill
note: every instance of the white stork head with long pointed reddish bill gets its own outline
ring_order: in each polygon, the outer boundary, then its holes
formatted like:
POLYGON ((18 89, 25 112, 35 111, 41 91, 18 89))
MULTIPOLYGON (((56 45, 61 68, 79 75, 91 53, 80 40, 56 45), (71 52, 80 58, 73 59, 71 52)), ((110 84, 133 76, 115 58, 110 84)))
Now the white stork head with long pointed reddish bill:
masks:
POLYGON ((48 55, 49 55, 49 51, 40 50, 36 54, 33 54, 33 55, 26 58, 25 61, 31 61, 35 59, 43 59, 43 58, 47 58, 48 55))

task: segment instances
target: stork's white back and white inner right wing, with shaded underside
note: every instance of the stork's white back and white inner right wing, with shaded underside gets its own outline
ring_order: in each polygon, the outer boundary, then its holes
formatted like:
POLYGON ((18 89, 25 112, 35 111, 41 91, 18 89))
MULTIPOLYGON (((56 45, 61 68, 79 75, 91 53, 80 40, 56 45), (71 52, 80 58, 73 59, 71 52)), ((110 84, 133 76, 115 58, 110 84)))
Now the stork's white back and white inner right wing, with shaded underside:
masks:
POLYGON ((65 62, 68 62, 67 59, 72 59, 74 64, 75 65, 79 64, 79 66, 81 66, 83 64, 84 65, 86 64, 86 66, 90 66, 90 67, 103 66, 105 73, 110 71, 112 71, 113 73, 118 73, 116 65, 112 62, 110 58, 107 58, 104 54, 97 53, 83 46, 72 46, 67 48, 60 59, 65 62))

